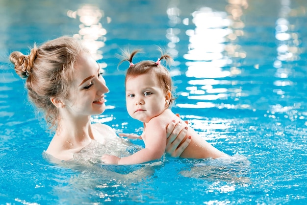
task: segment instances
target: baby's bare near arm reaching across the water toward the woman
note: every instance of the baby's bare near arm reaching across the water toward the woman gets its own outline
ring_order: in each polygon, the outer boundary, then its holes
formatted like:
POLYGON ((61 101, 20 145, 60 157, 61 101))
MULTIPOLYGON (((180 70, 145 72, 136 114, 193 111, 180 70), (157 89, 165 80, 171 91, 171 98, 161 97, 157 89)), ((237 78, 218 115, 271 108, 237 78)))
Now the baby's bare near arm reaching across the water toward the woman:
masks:
MULTIPOLYGON (((153 120, 153 119, 152 119, 153 120)), ((165 127, 158 123, 158 120, 153 120, 147 124, 145 130, 145 148, 134 153, 131 156, 118 158, 110 155, 103 155, 104 163, 112 164, 137 164, 154 159, 160 159, 164 154, 166 147, 166 132, 165 127)), ((142 135, 143 136, 143 135, 142 135)))

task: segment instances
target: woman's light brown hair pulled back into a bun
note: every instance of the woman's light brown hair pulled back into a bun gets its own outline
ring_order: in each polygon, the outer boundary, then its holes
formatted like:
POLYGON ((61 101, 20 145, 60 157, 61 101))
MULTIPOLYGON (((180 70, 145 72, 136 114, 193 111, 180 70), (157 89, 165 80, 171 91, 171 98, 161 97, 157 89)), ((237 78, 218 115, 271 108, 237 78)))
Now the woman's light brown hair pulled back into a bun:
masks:
POLYGON ((26 78, 29 99, 45 113, 51 127, 56 126, 58 112, 50 98, 69 98, 74 64, 82 51, 86 49, 77 39, 60 37, 39 47, 34 45, 29 55, 14 51, 9 56, 16 73, 26 78))

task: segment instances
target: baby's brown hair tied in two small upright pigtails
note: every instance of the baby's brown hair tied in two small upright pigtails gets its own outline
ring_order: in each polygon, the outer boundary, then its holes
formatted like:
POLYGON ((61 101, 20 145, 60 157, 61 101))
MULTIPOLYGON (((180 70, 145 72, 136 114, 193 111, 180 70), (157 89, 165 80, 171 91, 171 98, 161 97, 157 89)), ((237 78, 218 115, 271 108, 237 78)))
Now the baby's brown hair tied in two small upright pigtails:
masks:
POLYGON ((135 54, 137 54, 138 52, 142 50, 137 49, 137 50, 132 51, 131 53, 129 52, 129 50, 124 50, 123 51, 124 59, 119 64, 123 63, 124 61, 128 61, 130 63, 130 66, 126 72, 125 84, 127 82, 127 79, 130 77, 133 78, 133 77, 136 77, 142 74, 147 74, 149 72, 152 72, 156 76, 160 87, 165 92, 171 91, 172 96, 171 96, 171 100, 169 103, 169 106, 171 106, 176 99, 174 97, 175 89, 173 87, 173 81, 172 81, 170 72, 168 71, 167 68, 161 65, 160 61, 165 60, 167 65, 170 66, 173 63, 173 58, 167 54, 163 54, 161 49, 159 50, 161 52, 161 56, 158 58, 156 62, 152 60, 145 60, 145 61, 140 61, 136 64, 132 63, 133 57, 135 56, 135 54))

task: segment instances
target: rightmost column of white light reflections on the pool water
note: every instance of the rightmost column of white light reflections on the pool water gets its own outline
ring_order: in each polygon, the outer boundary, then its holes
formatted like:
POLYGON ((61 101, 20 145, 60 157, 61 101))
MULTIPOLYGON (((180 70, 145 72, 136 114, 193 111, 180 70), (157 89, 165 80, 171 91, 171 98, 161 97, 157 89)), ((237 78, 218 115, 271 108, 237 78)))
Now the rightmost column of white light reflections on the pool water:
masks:
MULTIPOLYGON (((279 19, 276 21, 275 38, 278 41, 277 57, 273 64, 276 68, 275 77, 278 78, 274 81, 274 85, 278 89, 274 89, 273 92, 280 95, 281 98, 285 97, 285 91, 283 87, 293 86, 294 83, 290 81, 289 75, 292 73, 293 61, 300 59, 300 40, 295 30, 297 29, 295 24, 289 22, 289 16, 298 16, 299 12, 296 9, 291 9, 290 0, 280 0, 281 8, 279 13, 279 19), (291 14, 290 14, 291 12, 291 14)), ((272 105, 270 110, 267 111, 269 118, 276 118, 276 114, 283 114, 284 118, 290 120, 305 119, 306 114, 297 111, 301 107, 300 103, 295 103, 293 106, 282 106, 281 104, 272 105)))

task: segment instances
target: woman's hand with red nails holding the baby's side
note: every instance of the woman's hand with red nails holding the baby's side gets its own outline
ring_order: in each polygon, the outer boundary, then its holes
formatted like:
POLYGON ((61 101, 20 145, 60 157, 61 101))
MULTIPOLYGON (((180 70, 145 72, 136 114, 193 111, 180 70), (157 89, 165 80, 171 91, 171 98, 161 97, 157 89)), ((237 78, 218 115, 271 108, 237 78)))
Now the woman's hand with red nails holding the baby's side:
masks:
POLYGON ((166 128, 167 141, 165 152, 172 157, 180 157, 182 152, 187 148, 191 142, 191 137, 185 137, 188 131, 188 127, 181 121, 176 122, 173 120, 166 128))

